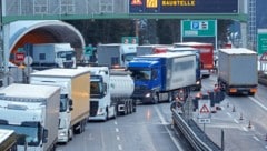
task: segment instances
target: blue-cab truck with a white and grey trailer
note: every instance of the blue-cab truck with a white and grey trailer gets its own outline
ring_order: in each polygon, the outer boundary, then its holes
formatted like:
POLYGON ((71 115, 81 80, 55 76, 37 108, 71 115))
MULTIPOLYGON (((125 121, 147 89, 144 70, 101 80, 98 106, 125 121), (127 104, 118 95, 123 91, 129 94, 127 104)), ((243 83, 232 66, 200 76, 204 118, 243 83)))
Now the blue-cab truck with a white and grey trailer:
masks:
POLYGON ((172 101, 196 83, 196 53, 167 52, 136 57, 128 63, 135 81, 132 98, 142 103, 172 101))

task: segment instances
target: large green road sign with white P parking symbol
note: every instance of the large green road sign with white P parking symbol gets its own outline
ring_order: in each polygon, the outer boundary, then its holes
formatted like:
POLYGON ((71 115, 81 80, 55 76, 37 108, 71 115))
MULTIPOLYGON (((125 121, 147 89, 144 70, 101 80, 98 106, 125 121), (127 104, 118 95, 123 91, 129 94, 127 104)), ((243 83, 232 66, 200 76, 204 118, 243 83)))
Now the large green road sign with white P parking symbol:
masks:
POLYGON ((182 37, 216 37, 216 20, 184 20, 182 37))

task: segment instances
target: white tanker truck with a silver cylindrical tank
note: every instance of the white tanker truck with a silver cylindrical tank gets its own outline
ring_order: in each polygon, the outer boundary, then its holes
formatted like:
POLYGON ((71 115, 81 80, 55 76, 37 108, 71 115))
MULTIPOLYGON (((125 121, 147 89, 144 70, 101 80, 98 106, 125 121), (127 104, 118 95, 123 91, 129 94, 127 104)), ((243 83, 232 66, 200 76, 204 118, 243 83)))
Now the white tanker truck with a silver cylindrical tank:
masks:
POLYGON ((128 72, 120 71, 118 74, 118 71, 110 72, 108 67, 78 68, 90 70, 89 121, 106 121, 116 118, 117 113, 136 111, 136 102, 131 99, 134 81, 128 72))

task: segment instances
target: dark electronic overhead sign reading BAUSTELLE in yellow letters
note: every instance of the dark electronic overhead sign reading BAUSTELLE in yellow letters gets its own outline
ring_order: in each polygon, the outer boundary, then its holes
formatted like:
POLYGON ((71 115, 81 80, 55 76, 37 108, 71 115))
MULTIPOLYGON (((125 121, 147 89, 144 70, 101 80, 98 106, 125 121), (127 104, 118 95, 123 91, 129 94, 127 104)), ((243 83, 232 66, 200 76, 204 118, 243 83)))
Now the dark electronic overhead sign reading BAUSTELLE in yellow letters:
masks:
POLYGON ((238 13, 238 0, 130 0, 130 13, 238 13))

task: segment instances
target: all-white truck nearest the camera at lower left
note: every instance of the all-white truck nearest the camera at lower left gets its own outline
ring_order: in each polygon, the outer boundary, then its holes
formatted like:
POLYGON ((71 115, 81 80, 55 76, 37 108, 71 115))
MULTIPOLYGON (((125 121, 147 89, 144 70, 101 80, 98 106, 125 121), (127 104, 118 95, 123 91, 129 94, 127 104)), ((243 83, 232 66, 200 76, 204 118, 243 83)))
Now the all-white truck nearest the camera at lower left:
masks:
POLYGON ((0 93, 0 129, 14 130, 18 150, 56 150, 60 88, 11 84, 0 93))

